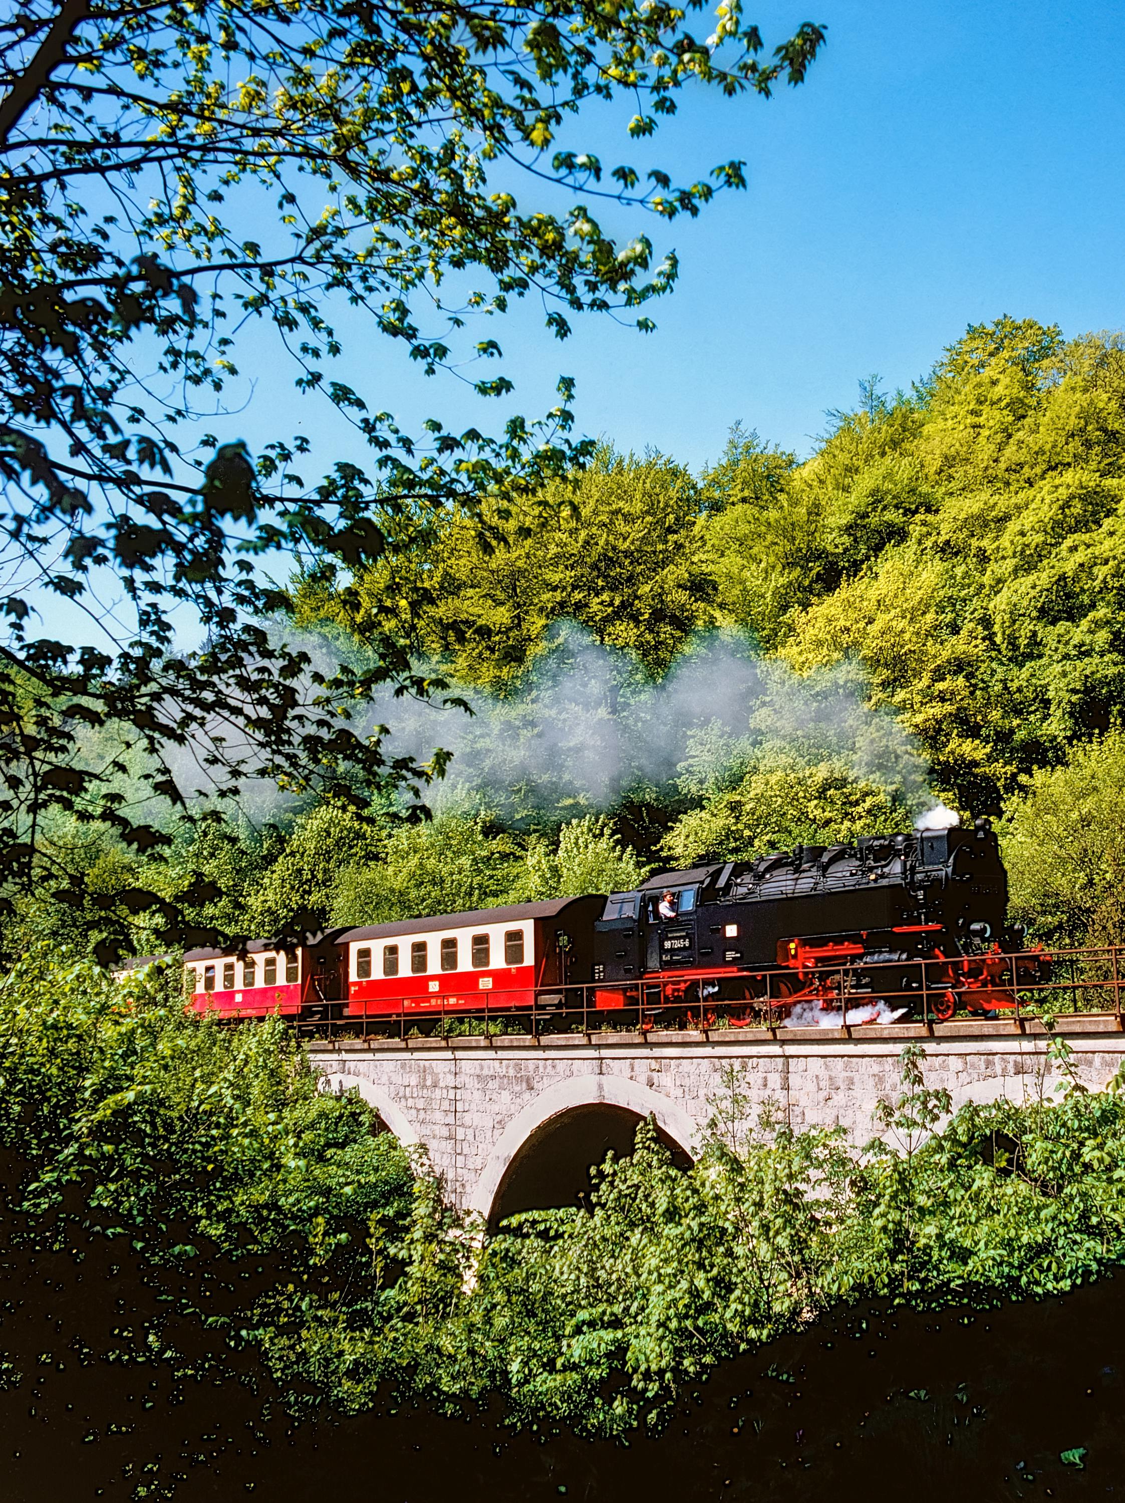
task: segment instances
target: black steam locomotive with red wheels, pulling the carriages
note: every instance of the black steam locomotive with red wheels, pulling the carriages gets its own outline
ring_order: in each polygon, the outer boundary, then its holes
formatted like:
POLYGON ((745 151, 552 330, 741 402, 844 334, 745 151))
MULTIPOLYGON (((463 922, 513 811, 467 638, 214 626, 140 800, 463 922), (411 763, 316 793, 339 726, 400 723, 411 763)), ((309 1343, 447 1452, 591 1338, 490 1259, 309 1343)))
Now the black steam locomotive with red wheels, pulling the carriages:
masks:
POLYGON ((987 819, 670 872, 613 894, 595 923, 598 1004, 659 978, 670 1001, 745 1001, 745 1021, 763 1004, 858 1022, 919 1003, 937 1019, 996 1012, 1045 972, 1038 953, 1005 959, 1023 945, 1006 908, 987 819))

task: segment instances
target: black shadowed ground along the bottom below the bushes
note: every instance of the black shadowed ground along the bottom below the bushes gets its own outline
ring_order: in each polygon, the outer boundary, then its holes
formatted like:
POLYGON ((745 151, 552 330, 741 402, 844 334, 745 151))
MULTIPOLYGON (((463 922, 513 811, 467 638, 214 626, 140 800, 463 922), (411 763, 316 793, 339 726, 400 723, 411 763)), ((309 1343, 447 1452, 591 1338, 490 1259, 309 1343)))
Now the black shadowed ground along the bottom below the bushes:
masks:
POLYGON ((138 1483, 177 1503, 1015 1503, 1125 1486, 1125 1281, 984 1312, 862 1306, 719 1366, 661 1437, 629 1446, 515 1434, 499 1411, 294 1428, 249 1387, 90 1360, 84 1338, 150 1297, 93 1252, 81 1281, 68 1257, 3 1258, 23 1374, 0 1390, 5 1503, 132 1498, 138 1483))

